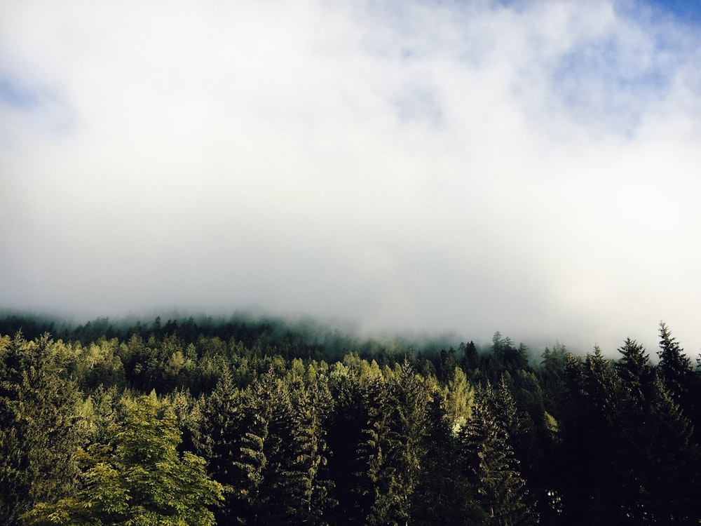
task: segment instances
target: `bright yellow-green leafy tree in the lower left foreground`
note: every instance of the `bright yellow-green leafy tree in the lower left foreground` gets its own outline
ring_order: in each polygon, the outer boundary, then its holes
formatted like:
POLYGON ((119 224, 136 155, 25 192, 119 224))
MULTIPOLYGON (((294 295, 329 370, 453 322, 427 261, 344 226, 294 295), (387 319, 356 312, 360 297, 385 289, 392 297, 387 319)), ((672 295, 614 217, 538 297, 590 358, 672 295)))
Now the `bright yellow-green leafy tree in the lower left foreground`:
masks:
POLYGON ((112 428, 111 451, 93 458, 74 497, 37 505, 28 525, 182 526, 215 524, 222 487, 205 461, 179 454, 175 414, 153 396, 123 398, 125 418, 112 428))

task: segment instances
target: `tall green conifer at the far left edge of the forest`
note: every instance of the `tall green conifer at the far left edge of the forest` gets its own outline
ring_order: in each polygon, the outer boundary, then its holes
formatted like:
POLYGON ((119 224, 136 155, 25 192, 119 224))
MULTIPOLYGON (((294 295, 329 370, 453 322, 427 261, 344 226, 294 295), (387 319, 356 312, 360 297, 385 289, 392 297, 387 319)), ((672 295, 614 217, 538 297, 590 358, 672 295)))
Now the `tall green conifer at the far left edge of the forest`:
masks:
POLYGON ((67 351, 48 334, 0 337, 0 523, 72 492, 83 426, 67 351))

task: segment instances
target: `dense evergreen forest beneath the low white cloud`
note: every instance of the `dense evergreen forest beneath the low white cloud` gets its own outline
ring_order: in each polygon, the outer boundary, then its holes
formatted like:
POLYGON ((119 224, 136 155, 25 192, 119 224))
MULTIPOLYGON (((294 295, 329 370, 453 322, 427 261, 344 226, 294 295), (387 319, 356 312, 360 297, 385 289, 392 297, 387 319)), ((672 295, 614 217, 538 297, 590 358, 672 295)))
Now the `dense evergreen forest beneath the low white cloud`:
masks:
POLYGON ((6 313, 0 524, 698 525, 701 361, 659 339, 6 313))

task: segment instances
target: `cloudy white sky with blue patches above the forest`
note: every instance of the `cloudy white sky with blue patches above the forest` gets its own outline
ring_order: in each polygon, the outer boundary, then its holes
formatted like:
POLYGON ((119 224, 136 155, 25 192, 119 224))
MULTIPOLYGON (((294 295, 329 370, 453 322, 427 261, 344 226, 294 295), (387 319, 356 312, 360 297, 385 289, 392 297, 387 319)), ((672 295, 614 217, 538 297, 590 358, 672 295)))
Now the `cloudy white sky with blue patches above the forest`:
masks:
POLYGON ((0 307, 701 351, 701 7, 0 3, 0 307))

